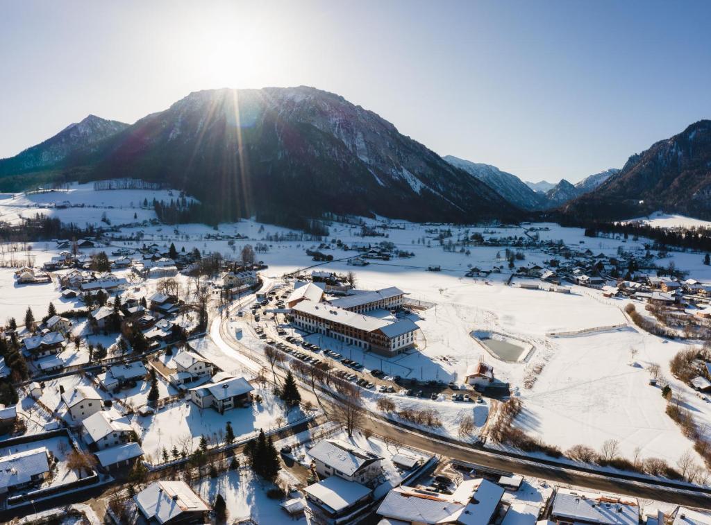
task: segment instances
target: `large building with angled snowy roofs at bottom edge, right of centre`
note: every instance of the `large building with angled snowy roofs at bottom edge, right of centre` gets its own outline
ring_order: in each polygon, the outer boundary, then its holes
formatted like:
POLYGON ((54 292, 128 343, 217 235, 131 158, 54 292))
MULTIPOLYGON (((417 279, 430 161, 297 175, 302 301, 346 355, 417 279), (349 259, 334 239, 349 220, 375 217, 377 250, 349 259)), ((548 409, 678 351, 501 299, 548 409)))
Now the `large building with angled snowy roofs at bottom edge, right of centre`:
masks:
POLYGON ((378 507, 392 523, 487 525, 493 521, 504 490, 488 480, 466 480, 452 494, 395 487, 378 507))

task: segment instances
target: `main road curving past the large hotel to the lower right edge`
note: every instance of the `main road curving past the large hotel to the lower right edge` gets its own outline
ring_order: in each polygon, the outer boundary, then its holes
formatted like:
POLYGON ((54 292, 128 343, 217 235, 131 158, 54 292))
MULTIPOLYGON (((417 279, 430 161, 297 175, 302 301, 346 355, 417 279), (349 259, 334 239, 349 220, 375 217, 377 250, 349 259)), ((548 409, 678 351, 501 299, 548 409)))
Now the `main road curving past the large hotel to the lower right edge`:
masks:
MULTIPOLYGON (((230 310, 241 308, 253 299, 253 296, 251 298, 249 296, 242 298, 240 304, 233 306, 230 310)), ((224 319, 215 319, 213 322, 210 333, 218 347, 223 351, 229 352, 230 357, 237 358, 242 364, 247 364, 247 362, 251 361, 252 369, 262 367, 265 363, 264 358, 261 357, 257 351, 235 340, 228 329, 228 323, 229 316, 224 319)), ((283 378, 286 375, 283 369, 276 369, 276 371, 277 376, 283 378)), ((315 396, 314 392, 306 385, 301 384, 300 386, 304 400, 316 404, 320 399, 321 406, 324 406, 326 411, 328 411, 332 400, 328 398, 325 392, 320 392, 319 396, 315 396)), ((466 445, 457 445, 456 443, 449 443, 447 440, 444 440, 444 438, 437 439, 431 435, 418 433, 414 429, 406 430, 376 414, 371 414, 370 417, 365 418, 362 428, 372 432, 373 435, 395 440, 432 454, 476 463, 498 470, 515 472, 520 475, 538 477, 554 484, 577 485, 602 492, 627 494, 644 499, 655 499, 661 502, 682 504, 688 507, 711 509, 711 494, 704 492, 690 491, 678 487, 667 487, 653 480, 631 480, 605 475, 604 473, 582 472, 562 465, 560 467, 546 465, 545 463, 537 462, 533 459, 523 460, 520 458, 512 458, 506 455, 506 453, 501 453, 496 450, 480 450, 467 447, 466 445)))

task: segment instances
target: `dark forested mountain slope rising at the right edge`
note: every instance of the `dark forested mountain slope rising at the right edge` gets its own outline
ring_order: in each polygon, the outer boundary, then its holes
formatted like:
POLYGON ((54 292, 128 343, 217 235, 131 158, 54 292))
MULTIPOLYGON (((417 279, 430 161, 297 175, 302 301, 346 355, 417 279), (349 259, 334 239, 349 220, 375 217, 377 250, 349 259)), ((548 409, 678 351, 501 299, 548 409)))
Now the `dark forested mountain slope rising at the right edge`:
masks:
POLYGON ((629 158, 597 190, 560 209, 568 220, 619 220, 655 211, 711 219, 711 120, 629 158))

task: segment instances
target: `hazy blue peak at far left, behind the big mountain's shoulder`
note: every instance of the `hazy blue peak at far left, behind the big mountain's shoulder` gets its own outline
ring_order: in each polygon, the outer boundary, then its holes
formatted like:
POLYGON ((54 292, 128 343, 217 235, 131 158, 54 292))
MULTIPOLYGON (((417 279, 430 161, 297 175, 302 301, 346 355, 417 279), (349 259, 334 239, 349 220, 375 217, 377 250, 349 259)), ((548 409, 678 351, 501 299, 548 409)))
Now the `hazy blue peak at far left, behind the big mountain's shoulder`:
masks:
POLYGON ((0 175, 16 175, 55 166, 61 161, 95 151, 97 144, 129 124, 89 115, 70 124, 50 139, 27 148, 14 157, 0 159, 0 175))

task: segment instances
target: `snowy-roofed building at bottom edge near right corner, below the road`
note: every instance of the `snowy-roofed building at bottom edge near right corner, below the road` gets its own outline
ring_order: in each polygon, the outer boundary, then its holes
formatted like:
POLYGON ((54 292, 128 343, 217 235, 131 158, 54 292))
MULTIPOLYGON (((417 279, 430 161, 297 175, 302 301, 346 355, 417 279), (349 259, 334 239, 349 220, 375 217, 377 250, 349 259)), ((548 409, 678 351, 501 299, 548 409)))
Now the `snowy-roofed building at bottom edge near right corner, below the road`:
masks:
POLYGON ((636 499, 558 489, 550 519, 560 524, 637 525, 639 505, 636 499))

